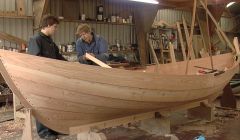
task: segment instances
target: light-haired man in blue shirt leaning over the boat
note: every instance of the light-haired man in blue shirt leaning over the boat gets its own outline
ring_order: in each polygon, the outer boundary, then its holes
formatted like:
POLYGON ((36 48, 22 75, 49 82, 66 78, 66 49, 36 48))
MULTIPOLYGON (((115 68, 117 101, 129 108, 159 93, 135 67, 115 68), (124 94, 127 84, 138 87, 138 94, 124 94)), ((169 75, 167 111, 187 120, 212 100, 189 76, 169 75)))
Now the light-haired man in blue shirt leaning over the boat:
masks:
POLYGON ((93 62, 86 58, 86 53, 91 54, 103 62, 108 60, 107 41, 101 36, 93 33, 88 24, 80 24, 77 28, 76 35, 79 36, 76 43, 76 49, 80 63, 93 65, 93 62))

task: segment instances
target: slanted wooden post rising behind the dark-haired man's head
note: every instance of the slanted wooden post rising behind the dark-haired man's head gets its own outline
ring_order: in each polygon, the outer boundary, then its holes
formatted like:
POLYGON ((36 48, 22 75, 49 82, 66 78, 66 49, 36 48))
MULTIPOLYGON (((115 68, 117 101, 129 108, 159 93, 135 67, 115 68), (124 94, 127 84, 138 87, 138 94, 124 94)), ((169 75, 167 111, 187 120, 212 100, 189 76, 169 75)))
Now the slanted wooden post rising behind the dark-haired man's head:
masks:
POLYGON ((33 1, 33 13, 34 17, 34 27, 39 28, 43 15, 47 12, 47 7, 50 0, 34 0, 33 1))

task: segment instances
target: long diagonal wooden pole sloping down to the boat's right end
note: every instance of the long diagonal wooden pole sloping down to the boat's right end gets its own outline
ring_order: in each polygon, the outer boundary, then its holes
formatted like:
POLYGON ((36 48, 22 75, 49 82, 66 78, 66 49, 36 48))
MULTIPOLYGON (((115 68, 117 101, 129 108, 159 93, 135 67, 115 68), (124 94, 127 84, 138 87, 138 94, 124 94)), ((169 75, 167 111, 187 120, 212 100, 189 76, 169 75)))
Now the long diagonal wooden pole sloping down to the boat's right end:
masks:
POLYGON ((224 40, 227 42, 228 46, 232 49, 233 52, 235 52, 235 49, 232 45, 232 43, 229 41, 228 37, 226 36, 226 34, 222 31, 221 27, 218 25, 217 21, 214 19, 213 15, 211 14, 211 12, 208 10, 208 8, 206 7, 206 5, 202 2, 202 0, 200 0, 201 5, 203 6, 203 8, 206 10, 206 12, 208 13, 209 17, 212 19, 213 23, 215 24, 217 30, 219 30, 219 32, 222 34, 224 40))

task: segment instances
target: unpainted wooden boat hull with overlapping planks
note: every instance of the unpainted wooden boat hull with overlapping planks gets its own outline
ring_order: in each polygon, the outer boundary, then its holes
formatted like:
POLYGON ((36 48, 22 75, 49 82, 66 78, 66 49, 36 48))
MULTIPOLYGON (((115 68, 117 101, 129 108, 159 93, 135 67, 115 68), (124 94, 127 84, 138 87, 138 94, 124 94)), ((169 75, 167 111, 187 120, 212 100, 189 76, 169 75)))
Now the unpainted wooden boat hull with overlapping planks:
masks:
POLYGON ((228 67, 218 76, 196 75, 193 66, 208 67, 206 58, 190 61, 185 75, 185 62, 144 73, 8 51, 0 56, 1 73, 23 105, 44 125, 66 134, 74 126, 213 100, 238 70, 231 54, 214 56, 217 69, 228 67))

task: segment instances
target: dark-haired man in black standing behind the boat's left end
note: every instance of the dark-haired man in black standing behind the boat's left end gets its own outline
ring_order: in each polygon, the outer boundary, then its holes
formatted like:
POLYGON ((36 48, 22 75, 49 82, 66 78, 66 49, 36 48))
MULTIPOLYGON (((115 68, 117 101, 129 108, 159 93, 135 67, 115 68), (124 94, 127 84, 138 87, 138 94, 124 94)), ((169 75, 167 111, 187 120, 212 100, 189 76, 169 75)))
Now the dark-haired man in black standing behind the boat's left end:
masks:
MULTIPOLYGON (((46 16, 41 23, 41 31, 30 38, 28 53, 41 57, 47 57, 58 60, 65 60, 59 53, 57 45, 53 42, 51 36, 55 33, 59 21, 54 16, 46 16)), ((58 133, 47 128, 36 120, 37 132, 40 138, 56 140, 58 133)))

